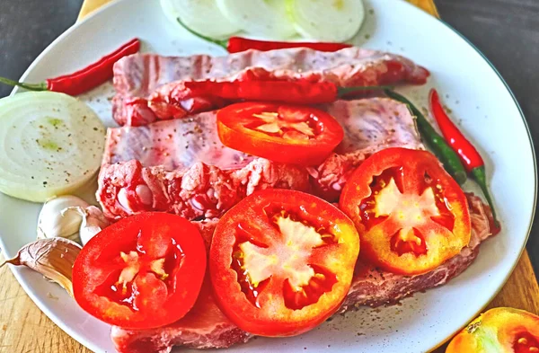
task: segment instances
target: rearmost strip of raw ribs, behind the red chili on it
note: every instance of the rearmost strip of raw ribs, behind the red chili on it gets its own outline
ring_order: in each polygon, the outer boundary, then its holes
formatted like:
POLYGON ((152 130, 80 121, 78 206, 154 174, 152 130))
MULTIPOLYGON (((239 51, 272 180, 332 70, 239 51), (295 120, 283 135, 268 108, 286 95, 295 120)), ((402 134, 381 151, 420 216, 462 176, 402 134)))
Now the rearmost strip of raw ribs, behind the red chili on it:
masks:
POLYGON ((182 101, 180 106, 169 104, 168 98, 174 91, 183 90, 184 81, 231 81, 260 75, 261 71, 269 71, 279 79, 301 77, 343 87, 424 84, 429 76, 429 71, 405 57, 360 48, 332 53, 305 48, 248 50, 226 57, 136 54, 120 59, 114 66, 117 94, 113 99, 113 117, 119 125, 141 126, 157 119, 181 118, 185 116, 181 106, 215 109, 215 102, 203 98, 182 101))

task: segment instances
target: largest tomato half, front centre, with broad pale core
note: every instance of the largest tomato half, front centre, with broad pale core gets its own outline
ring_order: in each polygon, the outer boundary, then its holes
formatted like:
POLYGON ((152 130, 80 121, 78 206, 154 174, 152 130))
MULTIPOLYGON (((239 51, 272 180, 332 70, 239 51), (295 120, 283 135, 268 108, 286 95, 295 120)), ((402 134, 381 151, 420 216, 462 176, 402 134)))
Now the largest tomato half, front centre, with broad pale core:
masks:
POLYGON ((209 269, 217 304, 256 335, 309 331, 339 309, 358 252, 358 233, 337 207, 299 191, 260 191, 216 226, 209 269))

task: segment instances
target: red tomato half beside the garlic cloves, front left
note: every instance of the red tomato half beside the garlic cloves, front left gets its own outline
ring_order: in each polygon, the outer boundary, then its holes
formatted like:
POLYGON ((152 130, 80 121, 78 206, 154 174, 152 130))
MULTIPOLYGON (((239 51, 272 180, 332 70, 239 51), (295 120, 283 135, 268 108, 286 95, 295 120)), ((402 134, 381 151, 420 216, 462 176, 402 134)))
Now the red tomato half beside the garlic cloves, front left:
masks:
POLYGON ((149 329, 195 304, 206 248, 181 216, 147 212, 110 225, 84 245, 73 267, 76 302, 112 325, 149 329))

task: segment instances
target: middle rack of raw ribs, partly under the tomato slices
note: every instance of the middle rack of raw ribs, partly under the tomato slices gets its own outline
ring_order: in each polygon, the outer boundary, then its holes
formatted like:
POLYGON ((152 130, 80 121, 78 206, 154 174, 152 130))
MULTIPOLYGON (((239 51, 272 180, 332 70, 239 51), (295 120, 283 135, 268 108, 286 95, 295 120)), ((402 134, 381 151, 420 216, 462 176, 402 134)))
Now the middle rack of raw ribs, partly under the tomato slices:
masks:
POLYGON ((414 119, 400 102, 336 101, 323 109, 339 120, 345 138, 328 160, 308 169, 223 146, 215 112, 110 128, 97 199, 112 219, 151 210, 215 217, 267 188, 308 191, 314 185, 318 195, 334 199, 368 155, 391 146, 422 148, 414 119))

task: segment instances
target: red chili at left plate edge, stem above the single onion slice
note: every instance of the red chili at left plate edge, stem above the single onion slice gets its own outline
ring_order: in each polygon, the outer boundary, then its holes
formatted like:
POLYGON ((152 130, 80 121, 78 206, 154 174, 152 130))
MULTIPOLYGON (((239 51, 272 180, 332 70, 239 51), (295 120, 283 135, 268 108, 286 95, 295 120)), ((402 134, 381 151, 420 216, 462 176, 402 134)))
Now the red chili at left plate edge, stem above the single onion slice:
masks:
POLYGON ((73 74, 49 78, 46 82, 40 84, 25 84, 0 77, 0 83, 19 86, 29 91, 51 91, 78 95, 88 92, 112 78, 114 63, 122 57, 137 53, 139 49, 140 40, 134 39, 92 65, 86 66, 73 74))

